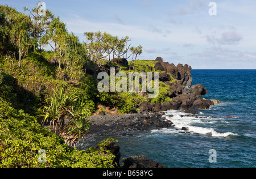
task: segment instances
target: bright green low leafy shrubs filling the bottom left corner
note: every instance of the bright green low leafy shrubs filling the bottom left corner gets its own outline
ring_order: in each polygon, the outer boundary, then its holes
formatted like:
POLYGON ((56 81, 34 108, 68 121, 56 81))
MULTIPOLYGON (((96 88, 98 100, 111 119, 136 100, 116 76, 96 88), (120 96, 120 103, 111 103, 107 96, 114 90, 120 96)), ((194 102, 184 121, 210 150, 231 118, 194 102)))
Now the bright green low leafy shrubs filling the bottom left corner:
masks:
POLYGON ((94 148, 72 149, 35 117, 0 98, 0 167, 113 167, 115 156, 103 150, 104 155, 94 148))

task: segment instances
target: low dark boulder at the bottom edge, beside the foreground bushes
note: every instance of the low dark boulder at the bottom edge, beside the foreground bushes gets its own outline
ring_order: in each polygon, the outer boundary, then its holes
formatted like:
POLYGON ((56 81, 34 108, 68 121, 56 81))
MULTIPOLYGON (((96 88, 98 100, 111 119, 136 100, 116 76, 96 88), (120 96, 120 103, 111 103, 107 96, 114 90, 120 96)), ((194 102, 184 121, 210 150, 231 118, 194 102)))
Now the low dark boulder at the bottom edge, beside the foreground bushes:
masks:
POLYGON ((146 156, 130 156, 123 158, 121 168, 164 168, 162 164, 146 156))

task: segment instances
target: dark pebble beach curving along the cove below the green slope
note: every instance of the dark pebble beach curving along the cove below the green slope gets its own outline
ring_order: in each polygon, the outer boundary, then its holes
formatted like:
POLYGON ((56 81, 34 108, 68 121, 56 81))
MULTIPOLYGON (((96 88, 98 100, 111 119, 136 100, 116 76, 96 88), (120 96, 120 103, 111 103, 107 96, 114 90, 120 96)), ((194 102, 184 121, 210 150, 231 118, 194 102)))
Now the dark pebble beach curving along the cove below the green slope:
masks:
MULTIPOLYGON (((90 116, 92 125, 86 135, 104 135, 105 133, 126 133, 132 131, 148 131, 165 127, 173 127, 174 123, 166 121, 164 112, 139 112, 133 114, 106 114, 90 116)), ((129 135, 129 134, 127 134, 129 135)), ((132 135, 132 134, 131 134, 132 135)))

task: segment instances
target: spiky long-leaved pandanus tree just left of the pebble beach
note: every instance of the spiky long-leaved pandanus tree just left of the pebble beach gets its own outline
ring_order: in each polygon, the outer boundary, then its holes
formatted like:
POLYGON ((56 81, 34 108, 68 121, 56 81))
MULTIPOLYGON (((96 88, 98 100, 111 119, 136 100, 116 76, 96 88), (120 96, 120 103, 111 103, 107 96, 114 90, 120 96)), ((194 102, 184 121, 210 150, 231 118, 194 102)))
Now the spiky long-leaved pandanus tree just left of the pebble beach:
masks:
POLYGON ((91 122, 86 117, 89 110, 85 109, 85 103, 78 100, 76 91, 67 91, 64 87, 53 90, 53 95, 46 99, 46 105, 42 106, 43 121, 49 119, 55 133, 59 133, 69 146, 74 144, 89 130, 91 122), (65 118, 69 118, 69 122, 65 118))

